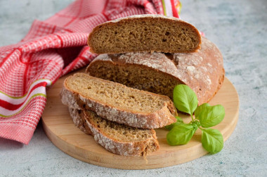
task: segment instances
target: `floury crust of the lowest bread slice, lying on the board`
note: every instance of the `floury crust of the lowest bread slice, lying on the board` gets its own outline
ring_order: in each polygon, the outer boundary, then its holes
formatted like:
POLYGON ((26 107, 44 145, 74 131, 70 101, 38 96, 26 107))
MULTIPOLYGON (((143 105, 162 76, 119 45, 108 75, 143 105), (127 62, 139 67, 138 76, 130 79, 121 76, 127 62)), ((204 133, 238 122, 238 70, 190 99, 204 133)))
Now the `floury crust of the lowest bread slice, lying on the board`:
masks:
MULTIPOLYGON (((159 149, 159 142, 157 141, 157 136, 155 130, 150 130, 152 138, 148 138, 147 140, 136 141, 136 142, 122 142, 110 138, 103 130, 100 130, 97 126, 91 123, 91 117, 89 114, 86 114, 86 111, 78 110, 78 109, 69 109, 70 116, 72 116, 73 120, 84 120, 86 123, 86 128, 89 129, 90 135, 93 135, 93 138, 107 149, 109 152, 124 155, 124 156, 145 156, 150 154, 150 152, 154 152, 159 149)), ((79 128, 82 128, 81 126, 79 128)))

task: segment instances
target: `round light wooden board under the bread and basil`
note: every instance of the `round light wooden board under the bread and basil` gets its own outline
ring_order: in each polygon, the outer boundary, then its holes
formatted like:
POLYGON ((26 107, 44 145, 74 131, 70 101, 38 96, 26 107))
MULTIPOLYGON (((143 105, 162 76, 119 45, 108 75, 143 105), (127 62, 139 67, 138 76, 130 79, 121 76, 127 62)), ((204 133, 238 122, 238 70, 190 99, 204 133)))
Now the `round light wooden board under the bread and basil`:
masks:
MULTIPOLYGON (((77 72, 84 72, 84 69, 77 72)), ((72 74, 70 73, 70 75, 72 74)), ((146 159, 144 157, 124 157, 108 152, 98 145, 91 135, 84 134, 82 130, 74 126, 67 106, 60 102, 60 90, 63 86, 63 80, 67 76, 60 78, 48 90, 47 104, 42 116, 46 135, 56 147, 66 154, 90 164, 115 169, 156 169, 182 164, 208 153, 202 147, 200 130, 196 131, 187 145, 170 146, 167 144, 167 130, 164 128, 156 130, 159 150, 149 154, 146 159)), ((214 127, 221 131, 223 140, 226 141, 235 129, 239 113, 238 94, 227 78, 224 80, 221 90, 209 104, 222 104, 226 110, 223 121, 214 127)), ((189 116, 180 116, 185 122, 190 122, 189 116)))

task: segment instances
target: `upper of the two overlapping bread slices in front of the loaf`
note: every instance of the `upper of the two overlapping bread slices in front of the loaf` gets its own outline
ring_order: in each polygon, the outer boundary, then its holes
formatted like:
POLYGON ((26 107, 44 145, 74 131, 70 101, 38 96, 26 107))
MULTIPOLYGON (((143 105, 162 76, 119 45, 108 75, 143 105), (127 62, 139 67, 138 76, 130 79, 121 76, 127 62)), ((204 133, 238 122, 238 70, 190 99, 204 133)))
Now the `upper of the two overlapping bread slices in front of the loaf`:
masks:
POLYGON ((61 101, 98 116, 138 128, 161 128, 176 122, 174 103, 167 96, 76 73, 64 81, 61 101))

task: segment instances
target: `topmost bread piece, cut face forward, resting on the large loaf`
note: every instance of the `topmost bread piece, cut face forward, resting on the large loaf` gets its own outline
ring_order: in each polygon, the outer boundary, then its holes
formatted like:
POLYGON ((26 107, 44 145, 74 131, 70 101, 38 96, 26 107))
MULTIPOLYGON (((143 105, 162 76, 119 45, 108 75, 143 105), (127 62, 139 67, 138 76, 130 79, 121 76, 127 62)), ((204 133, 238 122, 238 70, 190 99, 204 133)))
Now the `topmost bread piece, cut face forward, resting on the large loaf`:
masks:
POLYGON ((200 32, 190 23, 160 15, 138 15, 100 24, 88 38, 96 54, 133 51, 166 53, 194 52, 200 49, 200 32))

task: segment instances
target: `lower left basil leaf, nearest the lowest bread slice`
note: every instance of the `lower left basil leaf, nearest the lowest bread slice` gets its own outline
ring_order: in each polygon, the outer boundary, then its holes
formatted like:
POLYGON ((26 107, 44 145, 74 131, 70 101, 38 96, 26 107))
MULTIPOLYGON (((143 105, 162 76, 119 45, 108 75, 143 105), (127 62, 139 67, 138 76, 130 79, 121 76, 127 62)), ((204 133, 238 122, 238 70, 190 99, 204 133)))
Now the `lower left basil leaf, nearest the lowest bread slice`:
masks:
POLYGON ((167 142, 169 145, 185 145, 195 133, 195 128, 191 124, 179 124, 174 126, 167 134, 167 142))

